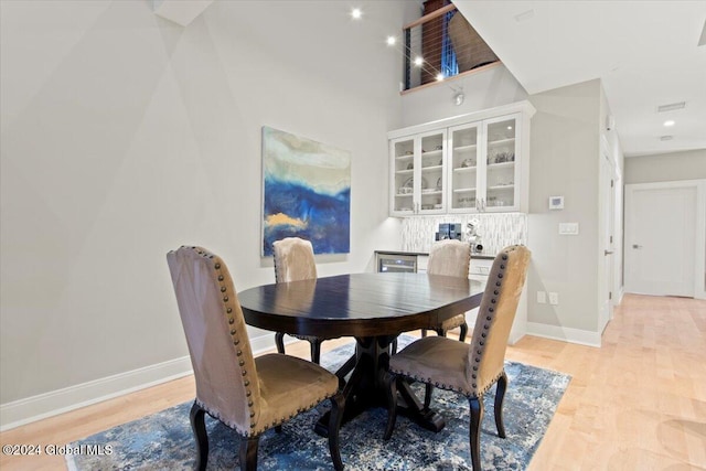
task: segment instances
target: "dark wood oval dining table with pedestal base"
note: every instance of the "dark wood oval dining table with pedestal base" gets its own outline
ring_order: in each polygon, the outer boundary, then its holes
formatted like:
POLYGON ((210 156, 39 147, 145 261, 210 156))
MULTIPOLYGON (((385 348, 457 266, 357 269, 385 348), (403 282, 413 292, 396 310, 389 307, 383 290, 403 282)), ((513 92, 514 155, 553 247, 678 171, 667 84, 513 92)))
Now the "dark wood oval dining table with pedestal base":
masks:
MULTIPOLYGON (((363 272, 264 285, 238 292, 249 325, 320 339, 355 338, 355 354, 339 370, 343 422, 371 407, 387 407, 384 374, 391 344, 403 332, 429 329, 480 306, 483 283, 411 272, 363 272), (352 372, 351 372, 352 370, 352 372), (346 379, 347 373, 351 372, 346 379)), ((398 384, 398 413, 439 431, 443 418, 424 408, 408 383, 398 384)), ((317 424, 325 435, 328 417, 317 424)))

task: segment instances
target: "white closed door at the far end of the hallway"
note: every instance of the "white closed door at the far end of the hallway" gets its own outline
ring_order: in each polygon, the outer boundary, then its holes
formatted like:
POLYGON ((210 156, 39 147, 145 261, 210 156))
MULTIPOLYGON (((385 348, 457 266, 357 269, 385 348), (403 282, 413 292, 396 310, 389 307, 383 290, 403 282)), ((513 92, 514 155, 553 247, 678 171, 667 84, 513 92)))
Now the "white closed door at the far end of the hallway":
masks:
POLYGON ((696 186, 625 185, 625 291, 694 297, 696 186))

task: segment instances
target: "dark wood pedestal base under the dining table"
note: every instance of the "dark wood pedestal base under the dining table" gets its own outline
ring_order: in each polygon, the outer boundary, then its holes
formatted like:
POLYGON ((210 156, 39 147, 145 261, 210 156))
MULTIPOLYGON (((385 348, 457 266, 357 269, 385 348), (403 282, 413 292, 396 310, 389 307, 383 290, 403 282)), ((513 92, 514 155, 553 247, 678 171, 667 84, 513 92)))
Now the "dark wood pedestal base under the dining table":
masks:
MULTIPOLYGON (((343 386, 345 397, 345 410, 342 425, 357 417, 361 413, 373 407, 387 408, 387 392, 384 376, 389 365, 389 346, 395 336, 366 336, 357 338, 355 355, 336 372, 339 383, 343 386), (350 367, 355 364, 351 377, 345 381, 350 367)), ((425 409, 417 399, 409 383, 398 381, 397 414, 404 415, 431 431, 439 431, 446 422, 443 418, 430 409, 425 409)), ((385 424, 381 424, 381 430, 385 424)), ((329 413, 324 414, 317 422, 314 430, 322 437, 329 433, 329 413)))

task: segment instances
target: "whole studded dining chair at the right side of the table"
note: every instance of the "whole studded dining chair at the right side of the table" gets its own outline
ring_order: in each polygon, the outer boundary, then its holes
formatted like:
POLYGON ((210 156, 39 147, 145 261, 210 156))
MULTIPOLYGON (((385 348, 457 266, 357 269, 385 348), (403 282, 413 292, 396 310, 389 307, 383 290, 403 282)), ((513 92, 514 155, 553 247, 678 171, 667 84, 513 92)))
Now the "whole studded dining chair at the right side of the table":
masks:
POLYGON ((464 395, 470 403, 471 461, 481 470, 480 425, 483 418, 483 395, 494 385, 495 427, 505 438, 503 399, 507 388, 504 370, 507 338, 515 319, 520 295, 525 283, 530 250, 510 246, 493 261, 483 292, 470 345, 443 336, 419 339, 389 358, 385 375, 389 410, 384 438, 392 437, 397 417, 397 378, 407 377, 464 395))

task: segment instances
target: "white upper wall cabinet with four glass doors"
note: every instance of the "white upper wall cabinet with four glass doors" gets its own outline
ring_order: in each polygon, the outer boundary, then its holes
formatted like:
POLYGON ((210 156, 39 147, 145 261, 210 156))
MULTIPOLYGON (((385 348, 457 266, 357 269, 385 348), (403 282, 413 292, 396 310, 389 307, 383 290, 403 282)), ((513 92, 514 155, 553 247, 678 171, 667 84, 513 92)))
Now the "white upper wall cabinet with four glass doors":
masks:
POLYGON ((391 215, 527 211, 533 114, 521 101, 389 132, 391 215))

